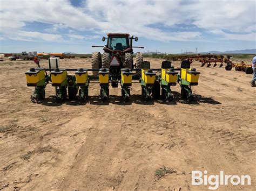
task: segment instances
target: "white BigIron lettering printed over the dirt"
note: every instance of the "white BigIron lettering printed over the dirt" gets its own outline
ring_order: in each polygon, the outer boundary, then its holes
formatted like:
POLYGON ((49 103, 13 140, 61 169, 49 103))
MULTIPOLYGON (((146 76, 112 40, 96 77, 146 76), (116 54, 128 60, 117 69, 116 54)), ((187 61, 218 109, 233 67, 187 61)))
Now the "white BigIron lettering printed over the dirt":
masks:
POLYGON ((220 171, 219 175, 207 175, 207 171, 192 171, 192 185, 210 185, 208 189, 215 190, 222 185, 251 185, 250 175, 226 175, 220 171))

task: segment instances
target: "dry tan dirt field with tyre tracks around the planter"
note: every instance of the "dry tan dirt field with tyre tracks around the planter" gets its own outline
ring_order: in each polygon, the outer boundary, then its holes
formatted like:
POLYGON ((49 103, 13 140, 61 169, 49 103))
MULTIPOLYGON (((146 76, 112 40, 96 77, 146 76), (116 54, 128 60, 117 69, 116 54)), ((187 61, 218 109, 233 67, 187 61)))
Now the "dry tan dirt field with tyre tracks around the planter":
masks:
MULTIPOLYGON (((162 61, 145 60, 152 68, 162 61)), ((60 61, 90 68, 90 59, 60 61)), ((193 66, 201 72, 197 102, 182 101, 178 85, 175 101, 144 102, 133 83, 130 102, 120 101, 118 87, 103 103, 92 83, 87 103, 55 103, 49 85, 46 100, 33 104, 24 75, 33 61, 0 62, 0 189, 207 190, 191 185, 191 171, 207 170, 252 178, 251 186, 219 190, 256 190, 252 75, 193 66)))

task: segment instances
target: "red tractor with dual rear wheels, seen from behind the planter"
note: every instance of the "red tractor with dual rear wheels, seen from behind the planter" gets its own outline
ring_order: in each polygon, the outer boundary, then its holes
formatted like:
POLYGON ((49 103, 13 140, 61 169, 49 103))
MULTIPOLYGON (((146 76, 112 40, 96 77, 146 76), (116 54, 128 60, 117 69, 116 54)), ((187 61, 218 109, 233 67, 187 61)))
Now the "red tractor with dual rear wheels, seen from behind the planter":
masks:
MULTIPOLYGON (((130 34, 126 33, 108 33, 107 38, 103 37, 102 41, 107 39, 105 46, 92 46, 103 47, 103 55, 100 52, 92 53, 92 69, 107 68, 110 71, 117 69, 120 74, 121 68, 141 68, 143 62, 143 53, 137 52, 136 63, 133 64, 133 49, 132 48, 144 48, 138 46, 132 46, 132 40, 138 41, 138 37, 130 37, 130 34), (114 59, 115 58, 115 59, 114 59), (118 67, 117 67, 118 65, 118 67)), ((98 71, 94 71, 93 75, 97 75, 98 71)))

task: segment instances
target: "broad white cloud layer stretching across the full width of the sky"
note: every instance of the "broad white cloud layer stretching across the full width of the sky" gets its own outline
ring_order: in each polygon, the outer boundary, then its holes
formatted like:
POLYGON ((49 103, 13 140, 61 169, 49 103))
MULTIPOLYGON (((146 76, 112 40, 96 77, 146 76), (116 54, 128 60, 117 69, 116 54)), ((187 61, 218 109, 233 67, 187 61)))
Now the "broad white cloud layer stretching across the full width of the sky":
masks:
POLYGON ((177 25, 193 24, 206 32, 215 31, 220 38, 253 41, 255 9, 254 0, 86 0, 79 8, 68 0, 1 0, 0 32, 5 37, 23 40, 83 40, 106 32, 125 32, 160 41, 190 41, 202 38, 202 33, 193 27, 170 30, 177 25), (26 31, 28 22, 51 27, 44 29, 46 33, 26 31), (70 34, 59 34, 60 30, 70 34), (91 35, 80 35, 81 32, 91 35))

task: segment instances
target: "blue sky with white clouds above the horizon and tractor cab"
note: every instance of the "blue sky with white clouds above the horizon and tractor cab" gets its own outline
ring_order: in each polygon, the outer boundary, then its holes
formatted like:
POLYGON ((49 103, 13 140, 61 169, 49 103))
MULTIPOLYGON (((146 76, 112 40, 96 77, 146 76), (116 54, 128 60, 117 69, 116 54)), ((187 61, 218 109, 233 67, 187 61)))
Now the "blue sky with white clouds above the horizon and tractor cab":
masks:
POLYGON ((130 33, 134 52, 256 48, 255 0, 0 0, 0 52, 102 52, 130 33))

